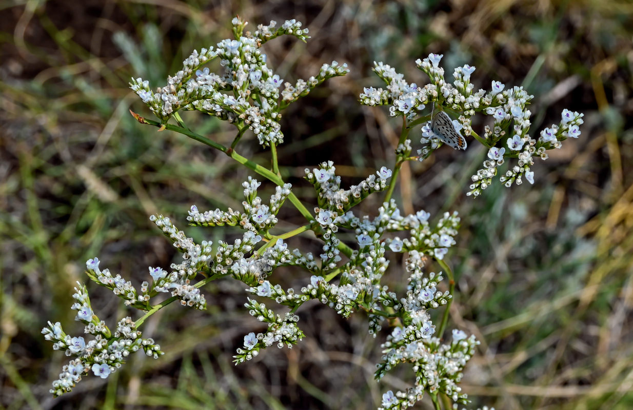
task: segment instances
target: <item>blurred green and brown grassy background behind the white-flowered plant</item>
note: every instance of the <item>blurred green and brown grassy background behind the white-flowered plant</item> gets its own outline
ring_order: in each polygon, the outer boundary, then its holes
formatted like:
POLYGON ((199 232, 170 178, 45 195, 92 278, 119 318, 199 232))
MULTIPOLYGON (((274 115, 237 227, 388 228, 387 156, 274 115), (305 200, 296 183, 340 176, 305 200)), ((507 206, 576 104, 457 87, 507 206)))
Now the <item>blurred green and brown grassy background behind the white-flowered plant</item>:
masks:
MULTIPOLYGON (((136 354, 107 380, 87 376, 71 394, 49 394, 67 357, 40 331, 52 320, 82 333, 70 295, 75 281, 87 280, 86 259, 98 256, 135 284, 147 266, 167 268, 179 256, 148 220, 153 213, 197 240, 237 235, 187 227, 185 218, 191 204, 239 206, 235 187, 247 170, 128 113, 151 117, 128 89, 130 77, 164 85, 193 49, 230 37, 235 15, 251 30, 291 18, 310 28, 307 45, 283 38, 265 46, 285 80, 308 78, 332 60, 351 68, 282 120, 281 171, 308 204, 306 166, 332 159, 348 185, 392 166, 399 121, 357 102, 362 87, 380 85, 373 61, 424 84, 415 59, 441 53, 447 77, 455 66, 477 67, 475 88, 523 85, 536 96, 532 134, 558 123, 563 108, 585 113, 580 139, 537 161, 534 185, 496 183, 466 197, 485 156, 471 142, 465 153, 443 147, 404 168, 396 197, 406 212, 462 215, 448 259, 458 282, 449 329, 482 342, 462 383, 473 408, 633 408, 629 1, 4 0, 0 15, 0 408, 368 409, 413 380, 404 371, 375 383, 385 335, 368 337, 362 314, 343 320, 318 302, 299 310, 301 344, 233 366, 243 335, 261 326, 242 308, 244 285, 223 280, 204 289, 208 311, 173 304, 145 323, 144 335, 166 351, 161 359, 136 354)), ((183 118, 223 144, 234 136, 213 118, 183 118)), ((411 134, 414 149, 419 134, 411 134)), ((246 135, 237 151, 269 164, 246 135)), ((262 188, 262 197, 272 192, 270 183, 262 188)), ((375 214, 377 204, 358 211, 375 214)), ((280 227, 303 224, 291 206, 282 212, 280 227)), ((291 245, 318 251, 309 237, 291 245)), ((387 277, 402 292, 401 266, 392 261, 387 277)), ((277 277, 298 289, 307 281, 300 273, 277 277)), ((138 317, 105 289, 89 289, 108 323, 138 317)))

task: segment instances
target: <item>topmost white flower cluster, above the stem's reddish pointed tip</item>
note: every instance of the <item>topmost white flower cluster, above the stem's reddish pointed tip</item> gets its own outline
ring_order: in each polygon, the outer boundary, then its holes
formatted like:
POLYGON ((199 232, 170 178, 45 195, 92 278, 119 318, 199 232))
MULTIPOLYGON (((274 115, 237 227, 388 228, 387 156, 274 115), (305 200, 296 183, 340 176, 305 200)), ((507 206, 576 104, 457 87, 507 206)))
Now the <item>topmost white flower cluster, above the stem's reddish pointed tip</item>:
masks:
POLYGON ((259 25, 251 34, 244 32, 247 23, 240 18, 234 18, 232 23, 234 39, 222 40, 215 49, 194 51, 183 61, 182 70, 169 77, 164 87, 152 92, 149 82, 142 78, 132 78, 130 87, 161 123, 172 116, 179 118, 180 109, 197 110, 229 121, 239 130, 252 130, 263 146, 281 144, 284 135, 279 124, 280 111, 325 80, 348 73, 347 65, 333 61, 324 64, 316 77, 299 79, 295 85, 284 84, 268 67, 261 46, 280 35, 293 35, 305 41, 309 38, 308 29, 301 28, 301 22, 287 20, 279 28, 276 22, 259 25), (213 59, 220 59, 222 73, 203 67, 213 59))

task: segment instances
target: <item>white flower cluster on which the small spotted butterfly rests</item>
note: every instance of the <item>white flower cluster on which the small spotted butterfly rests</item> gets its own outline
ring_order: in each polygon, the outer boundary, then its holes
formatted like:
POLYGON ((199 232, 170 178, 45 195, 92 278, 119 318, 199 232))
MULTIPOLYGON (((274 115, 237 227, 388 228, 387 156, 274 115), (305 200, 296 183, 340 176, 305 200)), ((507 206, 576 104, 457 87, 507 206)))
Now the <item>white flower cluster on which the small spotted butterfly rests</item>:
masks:
MULTIPOLYGON (((499 81, 493 81, 491 90, 474 90, 470 76, 475 67, 464 65, 454 69, 453 83, 444 80, 444 68, 439 63, 442 54, 429 54, 425 59, 416 61, 417 67, 429 77, 429 84, 418 87, 408 84, 402 74, 391 66, 374 63, 374 71, 387 84, 387 89, 365 88, 360 94, 361 104, 367 106, 389 105, 392 116, 404 116, 411 121, 409 128, 423 124, 422 148, 418 149, 418 159, 422 161, 447 142, 447 136, 436 126, 435 118, 422 115, 420 112, 427 106, 439 106, 458 116, 453 120, 455 132, 466 137, 474 137, 484 145, 488 152, 483 168, 472 176, 470 192, 467 195, 479 196, 482 190, 491 185, 492 178, 501 173, 499 181, 506 187, 513 183, 520 185, 524 177, 534 183, 534 156, 547 159, 549 149, 560 148, 561 142, 567 138, 580 135, 582 114, 563 110, 561 121, 541 131, 540 137, 530 137, 530 116, 527 105, 534 97, 523 87, 507 87, 499 81), (472 116, 475 113, 492 116, 492 125, 484 127, 480 137, 472 128, 472 116), (499 171, 505 159, 517 159, 516 165, 508 165, 507 170, 499 171)), ((431 110, 433 111, 433 110, 431 110)))

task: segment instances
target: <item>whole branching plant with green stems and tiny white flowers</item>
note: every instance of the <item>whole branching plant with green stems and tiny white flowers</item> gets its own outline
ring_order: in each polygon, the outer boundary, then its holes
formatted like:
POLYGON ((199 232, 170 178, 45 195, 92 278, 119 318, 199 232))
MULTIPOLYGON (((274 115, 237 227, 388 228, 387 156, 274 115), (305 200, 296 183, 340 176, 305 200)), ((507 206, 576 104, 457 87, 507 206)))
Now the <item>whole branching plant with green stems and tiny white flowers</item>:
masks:
MULTIPOLYGON (((418 87, 409 84, 403 75, 383 63, 376 63, 374 71, 387 84, 386 89, 365 88, 360 94, 361 104, 368 106, 389 105, 392 116, 403 118, 402 133, 396 149, 393 169, 382 166, 375 174, 368 175, 358 185, 341 187, 341 177, 336 175, 332 161, 313 168, 306 168, 305 179, 315 190, 315 206, 308 209, 292 192, 290 183, 284 182, 277 161, 277 146, 284 142, 280 130, 282 111, 325 80, 345 75, 348 68, 336 61, 324 64, 315 77, 298 80, 292 85, 283 82, 266 63, 261 46, 280 35, 293 35, 300 40, 308 39, 308 30, 295 20, 286 21, 281 27, 275 22, 259 25, 253 33, 244 32, 246 22, 234 18, 234 39, 219 42, 215 49, 202 49, 185 59, 182 70, 168 78, 168 84, 152 92, 147 81, 133 79, 132 90, 158 117, 149 120, 132 113, 142 124, 153 125, 159 130, 172 130, 187 135, 224 152, 230 158, 275 184, 270 200, 258 196, 261 182, 249 177, 242 183, 244 188, 243 209, 215 209, 200 211, 191 206, 187 221, 190 225, 218 227, 230 225, 244 233, 234 242, 218 241, 214 247, 210 241, 196 244, 172 220, 153 215, 151 220, 182 252, 182 261, 173 263, 170 269, 149 267, 148 280, 138 289, 120 275, 102 269, 99 259, 86 263, 86 274, 98 285, 113 291, 125 305, 140 309, 145 314, 137 320, 125 317, 111 332, 104 321, 92 310, 85 285, 78 283, 72 309, 77 311, 76 320, 84 323, 84 332, 94 336, 72 337, 64 332, 61 324, 48 323, 42 333, 53 342, 53 348, 63 350, 73 359, 63 367, 60 378, 53 382, 51 393, 58 396, 69 392, 90 371, 106 378, 120 368, 130 352, 143 349, 148 356, 160 357, 163 352, 152 339, 142 337, 140 326, 159 309, 171 302, 180 301, 183 306, 206 308, 201 289, 220 278, 233 278, 248 286, 249 294, 244 306, 249 314, 266 323, 265 332, 251 332, 244 336, 244 344, 235 352, 235 363, 243 363, 260 354, 271 345, 292 347, 304 337, 298 326, 296 312, 304 302, 316 299, 348 318, 352 313, 365 311, 368 332, 374 337, 388 321, 392 330, 382 344, 382 361, 377 364, 375 377, 380 380, 387 371, 407 363, 413 368, 413 387, 404 391, 390 390, 382 396, 382 409, 404 409, 413 406, 426 393, 439 408, 439 395, 445 395, 454 406, 465 404, 467 395, 458 383, 468 360, 473 356, 478 342, 473 335, 453 330, 450 342, 444 340, 448 324, 448 311, 453 300, 453 273, 444 258, 449 248, 456 244, 460 226, 457 213, 444 213, 433 222, 429 213, 420 210, 415 214, 402 215, 392 194, 399 170, 405 161, 422 161, 433 151, 448 144, 448 135, 463 139, 472 136, 488 148, 484 168, 473 175, 468 194, 479 195, 491 184, 505 158, 517 159, 517 165, 501 176, 506 186, 525 177, 534 183, 534 155, 547 158, 548 149, 560 148, 568 137, 580 134, 578 126, 582 114, 563 111, 560 124, 541 132, 535 140, 528 134, 530 111, 525 109, 532 98, 521 87, 505 89, 505 85, 492 82, 492 90, 473 92, 470 75, 474 67, 463 66, 454 71, 454 82, 444 80, 444 69, 439 66, 441 55, 430 54, 417 61, 418 68, 428 75, 429 84, 418 87), (213 59, 220 59, 223 72, 212 73, 203 67, 213 59), (283 86, 282 86, 283 84, 283 86), (442 118, 458 115, 452 123, 440 124, 432 113, 423 110, 432 106, 442 118), (237 134, 229 147, 196 134, 180 118, 180 110, 196 110, 229 121, 237 134), (483 137, 473 131, 471 118, 475 113, 491 115, 494 124, 486 126, 483 137), (445 117, 446 116, 446 117, 445 117), (177 125, 170 123, 175 120, 177 125), (422 148, 418 156, 411 156, 411 130, 422 127, 422 148), (444 128, 442 128, 444 127, 444 128), (263 147, 270 149, 272 167, 258 165, 237 153, 236 147, 247 130, 253 131, 263 147), (508 148, 506 150, 506 147, 508 148), (372 194, 385 192, 382 205, 375 216, 355 213, 354 206, 372 194), (306 224, 289 232, 279 232, 277 214, 288 200, 298 209, 306 224), (284 240, 312 231, 322 240, 322 253, 317 256, 299 249, 289 249, 284 240), (355 240, 342 242, 339 237, 355 240), (392 254, 406 254, 407 287, 404 294, 397 294, 382 283, 392 254), (435 261, 442 271, 425 271, 425 265, 435 261), (272 274, 280 266, 296 266, 305 271, 304 285, 299 290, 284 289, 271 282, 272 274), (204 276, 199 282, 192 282, 204 276), (444 279, 448 284, 444 284, 444 279), (438 290, 444 287, 446 290, 438 290), (161 293, 171 297, 153 304, 152 299, 161 293), (265 301, 270 299, 284 306, 284 313, 276 313, 265 301), (436 321, 432 310, 443 308, 436 321)), ((466 149, 465 140, 458 146, 466 149)), ((454 407, 456 408, 456 407, 454 407)))

